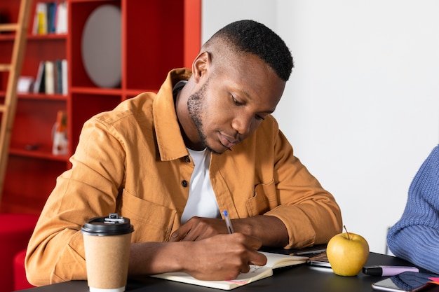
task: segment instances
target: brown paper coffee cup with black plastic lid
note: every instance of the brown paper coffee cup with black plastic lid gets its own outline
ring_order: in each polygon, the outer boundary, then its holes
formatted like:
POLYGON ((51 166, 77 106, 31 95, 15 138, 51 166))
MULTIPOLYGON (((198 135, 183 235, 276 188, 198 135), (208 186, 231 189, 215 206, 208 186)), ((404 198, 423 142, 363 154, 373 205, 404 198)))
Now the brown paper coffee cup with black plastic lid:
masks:
POLYGON ((129 218, 110 213, 81 228, 90 292, 123 292, 128 277, 131 233, 129 218))

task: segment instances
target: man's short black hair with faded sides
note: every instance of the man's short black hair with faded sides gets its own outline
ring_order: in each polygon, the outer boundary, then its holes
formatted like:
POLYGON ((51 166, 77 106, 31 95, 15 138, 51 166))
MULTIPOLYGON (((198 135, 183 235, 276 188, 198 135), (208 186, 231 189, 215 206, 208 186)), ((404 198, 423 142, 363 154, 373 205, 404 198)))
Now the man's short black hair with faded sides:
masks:
POLYGON ((238 51, 259 56, 283 81, 290 78, 294 67, 292 55, 283 39, 254 20, 239 20, 219 29, 211 39, 219 37, 238 51))

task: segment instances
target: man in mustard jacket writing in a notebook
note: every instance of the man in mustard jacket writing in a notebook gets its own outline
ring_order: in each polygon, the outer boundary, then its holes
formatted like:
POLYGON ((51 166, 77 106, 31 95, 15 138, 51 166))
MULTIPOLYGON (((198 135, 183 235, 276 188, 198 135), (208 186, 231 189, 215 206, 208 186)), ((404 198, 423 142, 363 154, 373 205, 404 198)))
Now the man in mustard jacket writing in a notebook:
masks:
POLYGON ((81 225, 110 212, 135 228, 129 274, 234 279, 266 263, 261 246, 311 246, 341 232, 334 197, 271 116, 291 70, 278 35, 234 22, 157 94, 88 120, 29 242, 29 281, 86 279, 81 225))

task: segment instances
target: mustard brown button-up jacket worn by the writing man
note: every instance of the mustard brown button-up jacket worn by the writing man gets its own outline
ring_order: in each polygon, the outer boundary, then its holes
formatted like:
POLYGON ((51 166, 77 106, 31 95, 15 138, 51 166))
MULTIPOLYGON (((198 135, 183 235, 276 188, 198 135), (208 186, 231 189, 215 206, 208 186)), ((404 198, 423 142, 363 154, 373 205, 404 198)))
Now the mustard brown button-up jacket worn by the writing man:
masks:
MULTIPOLYGON (((72 169, 58 177, 29 242, 25 265, 32 284, 86 279, 81 226, 89 218, 111 212, 130 218, 132 242, 167 242, 180 227, 194 164, 172 92, 190 76, 189 69, 170 71, 157 93, 127 99, 83 125, 72 169)), ((341 232, 335 198, 293 155, 273 116, 210 159, 219 209, 231 218, 280 218, 287 249, 325 243, 341 232)))

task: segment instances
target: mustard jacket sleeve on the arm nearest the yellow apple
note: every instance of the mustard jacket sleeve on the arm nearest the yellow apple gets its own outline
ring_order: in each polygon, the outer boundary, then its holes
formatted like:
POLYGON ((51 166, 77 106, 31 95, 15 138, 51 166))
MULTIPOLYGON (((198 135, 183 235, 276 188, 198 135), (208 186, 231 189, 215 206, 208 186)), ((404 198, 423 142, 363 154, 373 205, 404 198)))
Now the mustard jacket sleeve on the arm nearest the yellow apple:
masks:
POLYGON ((335 197, 325 190, 278 130, 275 144, 276 193, 278 206, 266 215, 276 216, 288 230, 285 249, 327 243, 342 232, 342 214, 335 197))

